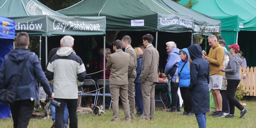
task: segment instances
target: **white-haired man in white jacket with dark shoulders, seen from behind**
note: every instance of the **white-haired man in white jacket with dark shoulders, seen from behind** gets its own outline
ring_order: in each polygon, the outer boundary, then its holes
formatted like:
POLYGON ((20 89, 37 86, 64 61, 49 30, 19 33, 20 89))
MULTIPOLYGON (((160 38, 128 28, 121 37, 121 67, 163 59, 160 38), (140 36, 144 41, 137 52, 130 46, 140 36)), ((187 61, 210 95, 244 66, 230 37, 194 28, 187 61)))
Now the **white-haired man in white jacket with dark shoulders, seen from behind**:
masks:
POLYGON ((62 47, 51 58, 46 69, 46 77, 53 84, 55 100, 60 102, 56 108, 55 127, 63 128, 63 112, 67 103, 69 111, 69 127, 77 128, 76 106, 78 91, 86 76, 82 59, 73 50, 74 38, 66 35, 61 39, 62 47))

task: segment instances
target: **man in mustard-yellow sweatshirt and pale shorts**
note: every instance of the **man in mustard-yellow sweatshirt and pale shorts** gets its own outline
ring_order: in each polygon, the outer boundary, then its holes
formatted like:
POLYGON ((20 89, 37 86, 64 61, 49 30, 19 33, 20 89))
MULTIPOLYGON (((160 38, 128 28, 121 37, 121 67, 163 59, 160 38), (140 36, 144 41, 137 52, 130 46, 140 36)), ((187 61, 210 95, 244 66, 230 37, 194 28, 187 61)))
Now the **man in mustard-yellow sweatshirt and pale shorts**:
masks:
POLYGON ((219 45, 215 35, 208 37, 209 45, 211 49, 209 54, 206 55, 205 51, 202 51, 203 58, 207 59, 210 63, 210 83, 209 88, 212 89, 212 95, 216 106, 216 111, 209 116, 224 117, 222 112, 222 96, 220 93, 222 87, 222 78, 224 73, 219 69, 224 66, 224 50, 219 45))

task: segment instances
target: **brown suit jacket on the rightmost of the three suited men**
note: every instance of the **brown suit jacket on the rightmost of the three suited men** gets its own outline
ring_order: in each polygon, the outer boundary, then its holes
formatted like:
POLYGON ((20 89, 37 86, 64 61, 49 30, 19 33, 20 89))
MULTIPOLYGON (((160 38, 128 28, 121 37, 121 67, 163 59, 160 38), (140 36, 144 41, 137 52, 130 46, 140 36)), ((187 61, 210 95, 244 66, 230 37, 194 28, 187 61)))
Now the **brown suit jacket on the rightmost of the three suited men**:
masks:
POLYGON ((142 57, 140 80, 158 82, 158 64, 159 53, 157 49, 153 45, 148 46, 142 57))

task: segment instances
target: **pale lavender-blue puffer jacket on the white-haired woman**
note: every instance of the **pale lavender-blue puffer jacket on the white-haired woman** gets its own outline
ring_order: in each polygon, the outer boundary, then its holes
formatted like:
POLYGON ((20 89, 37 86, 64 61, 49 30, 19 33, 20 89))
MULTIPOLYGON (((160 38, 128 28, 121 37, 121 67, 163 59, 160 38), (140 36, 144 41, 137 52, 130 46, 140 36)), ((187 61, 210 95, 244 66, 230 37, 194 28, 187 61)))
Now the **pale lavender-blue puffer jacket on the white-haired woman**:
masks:
MULTIPOLYGON (((174 65, 176 65, 177 67, 179 67, 179 62, 181 61, 180 58, 180 49, 178 48, 173 48, 172 51, 170 52, 169 56, 168 56, 168 61, 166 63, 165 66, 165 74, 168 74, 168 72, 172 69, 172 67, 174 65)), ((174 74, 174 76, 172 77, 172 82, 174 82, 176 76, 178 76, 178 68, 176 69, 176 72, 174 74)))

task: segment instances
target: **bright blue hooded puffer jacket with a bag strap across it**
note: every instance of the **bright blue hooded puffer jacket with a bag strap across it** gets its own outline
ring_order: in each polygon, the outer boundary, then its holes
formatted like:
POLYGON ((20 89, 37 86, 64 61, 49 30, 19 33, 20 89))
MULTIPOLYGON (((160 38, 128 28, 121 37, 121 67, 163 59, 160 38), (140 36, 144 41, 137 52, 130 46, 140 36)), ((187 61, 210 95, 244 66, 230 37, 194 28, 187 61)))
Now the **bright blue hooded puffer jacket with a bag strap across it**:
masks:
MULTIPOLYGON (((187 54, 187 57, 189 56, 187 48, 183 48, 181 50, 187 54)), ((179 74, 180 71, 181 71, 181 75, 180 75, 179 87, 188 87, 189 83, 190 83, 190 72, 189 72, 188 59, 185 60, 185 61, 181 60, 179 62, 178 74, 179 74), (185 62, 186 62, 186 64, 185 64, 184 68, 181 71, 181 68, 182 68, 182 66, 184 65, 185 62)))

